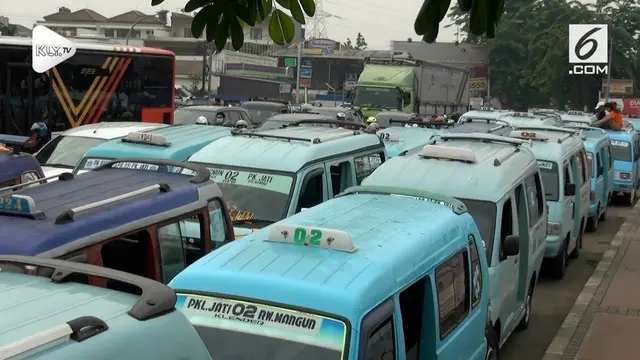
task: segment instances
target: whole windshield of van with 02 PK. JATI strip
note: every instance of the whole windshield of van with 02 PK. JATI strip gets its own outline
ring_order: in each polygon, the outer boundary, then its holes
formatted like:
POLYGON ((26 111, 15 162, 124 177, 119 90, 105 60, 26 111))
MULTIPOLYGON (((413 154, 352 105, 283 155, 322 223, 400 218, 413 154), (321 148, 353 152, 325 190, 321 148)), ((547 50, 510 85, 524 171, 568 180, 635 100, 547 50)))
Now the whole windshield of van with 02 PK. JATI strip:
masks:
MULTIPOLYGON (((222 190, 235 224, 263 227, 280 221, 287 215, 293 176, 262 169, 206 166, 213 180, 222 190)), ((183 169, 183 172, 191 170, 183 169)))

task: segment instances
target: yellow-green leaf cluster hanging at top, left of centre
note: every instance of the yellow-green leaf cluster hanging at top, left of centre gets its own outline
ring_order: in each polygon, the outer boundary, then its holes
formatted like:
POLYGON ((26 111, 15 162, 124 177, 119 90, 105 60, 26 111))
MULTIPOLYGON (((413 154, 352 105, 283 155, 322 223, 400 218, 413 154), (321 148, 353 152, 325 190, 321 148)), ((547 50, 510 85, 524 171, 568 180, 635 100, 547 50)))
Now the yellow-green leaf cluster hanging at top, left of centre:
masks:
MULTIPOLYGON (((305 16, 316 12, 314 0, 189 0, 184 7, 187 13, 196 11, 191 23, 191 33, 200 38, 203 34, 216 49, 222 50, 231 38, 233 49, 240 50, 244 43, 244 29, 268 20, 269 36, 274 43, 290 43, 295 36, 293 21, 305 23, 305 16)), ((151 0, 160 5, 164 0, 151 0)))

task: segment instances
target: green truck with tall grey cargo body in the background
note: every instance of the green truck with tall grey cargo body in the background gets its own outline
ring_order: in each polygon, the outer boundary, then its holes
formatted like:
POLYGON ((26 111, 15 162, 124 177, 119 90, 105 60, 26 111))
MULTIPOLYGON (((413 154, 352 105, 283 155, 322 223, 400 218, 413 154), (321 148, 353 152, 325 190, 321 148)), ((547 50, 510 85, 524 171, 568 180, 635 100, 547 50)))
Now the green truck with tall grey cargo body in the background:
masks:
POLYGON ((365 58, 352 103, 365 117, 399 110, 421 115, 466 111, 469 71, 413 59, 407 52, 365 58))

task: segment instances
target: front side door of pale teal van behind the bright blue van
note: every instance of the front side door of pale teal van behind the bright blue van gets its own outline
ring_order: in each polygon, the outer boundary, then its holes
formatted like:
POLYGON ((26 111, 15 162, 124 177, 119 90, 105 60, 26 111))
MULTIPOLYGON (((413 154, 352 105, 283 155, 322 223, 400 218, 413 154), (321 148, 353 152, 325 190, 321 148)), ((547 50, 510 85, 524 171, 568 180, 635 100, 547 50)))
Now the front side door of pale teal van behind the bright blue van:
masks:
MULTIPOLYGON (((520 186, 521 187, 521 186, 520 186)), ((491 282, 497 284, 496 291, 490 294, 492 311, 497 311, 502 329, 500 329, 500 344, 507 339, 516 324, 516 314, 518 312, 517 291, 518 291, 518 256, 506 257, 502 251, 504 239, 509 235, 518 234, 516 201, 513 191, 509 192, 500 205, 502 212, 498 239, 498 264, 496 271, 491 278, 491 282)), ((525 211, 526 216, 526 211, 525 211)), ((521 245, 524 248, 524 245, 521 245)))

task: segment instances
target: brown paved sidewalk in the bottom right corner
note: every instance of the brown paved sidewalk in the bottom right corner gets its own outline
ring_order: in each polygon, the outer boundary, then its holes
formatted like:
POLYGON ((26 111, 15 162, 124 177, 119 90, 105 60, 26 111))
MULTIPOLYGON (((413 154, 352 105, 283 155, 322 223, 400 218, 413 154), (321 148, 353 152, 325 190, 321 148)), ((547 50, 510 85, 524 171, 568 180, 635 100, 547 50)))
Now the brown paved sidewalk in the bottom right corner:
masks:
POLYGON ((640 359, 640 202, 629 211, 542 360, 640 359))

